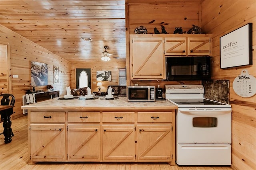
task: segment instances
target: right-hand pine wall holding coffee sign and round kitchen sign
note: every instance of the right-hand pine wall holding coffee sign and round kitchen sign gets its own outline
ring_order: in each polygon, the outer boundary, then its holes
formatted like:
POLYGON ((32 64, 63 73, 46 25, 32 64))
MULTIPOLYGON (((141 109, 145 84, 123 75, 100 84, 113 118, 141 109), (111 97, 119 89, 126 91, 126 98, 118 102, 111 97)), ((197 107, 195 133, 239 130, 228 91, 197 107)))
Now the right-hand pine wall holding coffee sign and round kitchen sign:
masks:
POLYGON ((232 84, 242 69, 256 77, 256 1, 205 0, 202 2, 202 29, 212 33, 212 79, 230 80, 232 106, 232 168, 256 169, 256 95, 238 96, 232 84), (220 37, 247 23, 253 24, 253 65, 220 69, 220 37))

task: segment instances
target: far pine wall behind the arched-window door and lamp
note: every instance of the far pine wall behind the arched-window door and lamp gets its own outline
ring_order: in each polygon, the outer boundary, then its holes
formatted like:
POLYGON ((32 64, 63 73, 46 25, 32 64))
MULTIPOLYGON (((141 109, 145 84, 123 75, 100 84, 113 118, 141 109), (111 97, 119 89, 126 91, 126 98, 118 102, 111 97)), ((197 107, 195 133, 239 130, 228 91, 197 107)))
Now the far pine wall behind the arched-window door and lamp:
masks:
POLYGON ((72 63, 71 64, 71 89, 76 88, 76 68, 90 68, 91 69, 91 89, 92 92, 98 92, 98 87, 96 86, 96 71, 111 71, 112 80, 111 81, 100 81, 102 82, 101 90, 102 92, 106 92, 109 85, 118 85, 118 68, 125 68, 125 61, 94 61, 90 60, 85 63, 72 63), (93 83, 95 82, 95 84, 93 83))

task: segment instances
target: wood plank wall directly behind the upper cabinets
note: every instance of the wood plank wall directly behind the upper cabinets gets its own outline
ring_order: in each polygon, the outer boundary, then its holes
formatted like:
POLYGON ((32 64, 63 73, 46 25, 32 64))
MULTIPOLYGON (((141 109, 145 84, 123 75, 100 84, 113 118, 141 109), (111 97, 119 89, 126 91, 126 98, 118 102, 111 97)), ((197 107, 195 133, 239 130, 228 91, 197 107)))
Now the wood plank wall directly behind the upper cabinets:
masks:
MULTIPOLYGON (((154 27, 158 31, 162 31, 163 25, 167 33, 173 34, 175 27, 182 27, 183 31, 188 31, 193 25, 201 27, 201 9, 197 0, 170 2, 163 0, 162 2, 155 0, 147 0, 138 3, 134 0, 126 1, 126 45, 129 49, 129 35, 135 34, 134 29, 143 25, 147 28, 148 34, 154 33, 154 27), (144 3, 142 3, 144 2, 144 3)), ((129 51, 126 51, 126 68, 129 70, 129 51)), ((130 78, 130 72, 127 70, 127 78, 130 78)), ((166 84, 201 84, 201 81, 138 81, 130 80, 131 86, 138 84, 139 86, 150 85, 164 88, 166 84)), ((128 84, 129 85, 129 84, 128 84)))

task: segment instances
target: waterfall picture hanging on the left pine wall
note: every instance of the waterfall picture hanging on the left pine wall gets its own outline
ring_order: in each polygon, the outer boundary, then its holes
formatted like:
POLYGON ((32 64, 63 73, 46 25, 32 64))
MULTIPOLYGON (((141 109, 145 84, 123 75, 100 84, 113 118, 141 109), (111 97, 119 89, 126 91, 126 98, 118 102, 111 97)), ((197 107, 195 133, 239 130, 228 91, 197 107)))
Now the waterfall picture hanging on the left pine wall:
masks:
POLYGON ((31 86, 47 86, 48 64, 31 61, 31 86))

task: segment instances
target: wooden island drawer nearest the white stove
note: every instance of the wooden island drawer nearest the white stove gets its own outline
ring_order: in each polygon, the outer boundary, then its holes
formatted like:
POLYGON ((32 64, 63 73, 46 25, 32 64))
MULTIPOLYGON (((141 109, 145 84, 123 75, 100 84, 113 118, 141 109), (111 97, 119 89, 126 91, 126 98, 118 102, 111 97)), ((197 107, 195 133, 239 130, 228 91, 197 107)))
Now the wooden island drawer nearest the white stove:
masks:
POLYGON ((171 123, 172 112, 138 112, 140 123, 171 123))

